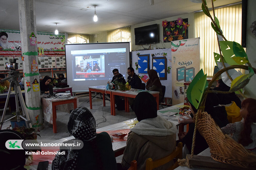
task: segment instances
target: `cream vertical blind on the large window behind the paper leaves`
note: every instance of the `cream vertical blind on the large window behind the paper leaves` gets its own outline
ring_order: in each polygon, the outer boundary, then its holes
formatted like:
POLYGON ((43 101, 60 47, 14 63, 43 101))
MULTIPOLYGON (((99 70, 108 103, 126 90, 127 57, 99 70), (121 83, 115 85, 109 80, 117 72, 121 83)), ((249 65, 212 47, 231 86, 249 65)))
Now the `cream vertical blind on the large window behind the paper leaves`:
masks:
MULTIPOLYGON (((214 9, 220 28, 228 41, 241 44, 242 4, 214 9)), ((213 11, 210 11, 213 17, 213 11)), ((213 52, 219 53, 216 33, 211 27, 211 19, 203 12, 194 14, 195 37, 200 37, 200 68, 207 76, 213 75, 215 61, 213 52)))

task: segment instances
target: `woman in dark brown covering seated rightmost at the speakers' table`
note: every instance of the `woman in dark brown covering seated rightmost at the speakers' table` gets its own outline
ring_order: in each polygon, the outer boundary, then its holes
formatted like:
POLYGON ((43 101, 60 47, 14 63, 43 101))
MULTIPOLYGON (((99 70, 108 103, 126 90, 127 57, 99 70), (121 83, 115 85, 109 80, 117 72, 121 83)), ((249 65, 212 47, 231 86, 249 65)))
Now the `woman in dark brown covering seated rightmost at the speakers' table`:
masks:
POLYGON ((146 84, 146 89, 159 92, 159 100, 161 100, 163 97, 163 92, 162 92, 163 89, 162 89, 162 84, 160 82, 160 79, 157 75, 156 70, 150 69, 148 71, 148 76, 149 76, 149 80, 146 84))

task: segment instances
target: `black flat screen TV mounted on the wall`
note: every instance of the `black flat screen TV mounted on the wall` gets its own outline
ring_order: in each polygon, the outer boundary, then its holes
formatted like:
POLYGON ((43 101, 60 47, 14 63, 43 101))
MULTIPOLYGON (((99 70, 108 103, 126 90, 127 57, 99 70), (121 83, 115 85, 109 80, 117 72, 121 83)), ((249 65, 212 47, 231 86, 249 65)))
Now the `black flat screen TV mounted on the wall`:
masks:
POLYGON ((152 44, 158 42, 157 24, 134 28, 135 45, 152 44))

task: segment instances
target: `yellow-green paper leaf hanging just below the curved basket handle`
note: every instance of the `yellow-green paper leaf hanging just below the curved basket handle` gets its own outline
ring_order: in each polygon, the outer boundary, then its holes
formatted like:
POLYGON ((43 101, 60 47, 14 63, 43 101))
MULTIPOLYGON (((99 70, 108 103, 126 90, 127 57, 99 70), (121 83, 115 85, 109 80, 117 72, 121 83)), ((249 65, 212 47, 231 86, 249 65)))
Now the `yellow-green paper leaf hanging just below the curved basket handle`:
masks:
POLYGON ((248 69, 249 74, 238 76, 231 82, 231 87, 229 91, 238 91, 241 88, 244 88, 244 86, 246 86, 249 83, 251 77, 254 75, 254 71, 251 67, 249 67, 248 69))

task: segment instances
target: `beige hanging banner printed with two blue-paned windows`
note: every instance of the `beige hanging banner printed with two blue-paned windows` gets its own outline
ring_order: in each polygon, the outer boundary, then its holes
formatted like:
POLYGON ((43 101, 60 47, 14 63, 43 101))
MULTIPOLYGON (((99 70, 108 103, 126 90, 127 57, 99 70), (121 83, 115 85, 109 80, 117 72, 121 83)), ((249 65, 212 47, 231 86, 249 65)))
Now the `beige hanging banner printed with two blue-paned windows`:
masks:
POLYGON ((172 104, 184 102, 184 83, 200 69, 200 38, 172 41, 172 104))

